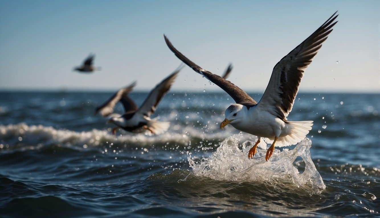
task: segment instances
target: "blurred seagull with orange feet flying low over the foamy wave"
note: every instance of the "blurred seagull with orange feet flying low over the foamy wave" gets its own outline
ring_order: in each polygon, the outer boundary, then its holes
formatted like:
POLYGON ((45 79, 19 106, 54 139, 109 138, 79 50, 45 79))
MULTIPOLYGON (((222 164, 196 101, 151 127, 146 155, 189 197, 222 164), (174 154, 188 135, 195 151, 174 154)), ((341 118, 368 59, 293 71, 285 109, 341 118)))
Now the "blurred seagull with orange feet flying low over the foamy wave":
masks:
MULTIPOLYGON (((115 128, 112 129, 112 134, 116 134, 118 128, 122 128, 128 132, 145 132, 150 131, 152 134, 160 134, 165 132, 169 128, 169 122, 160 122, 157 119, 151 119, 150 115, 152 115, 161 98, 169 91, 171 85, 174 83, 174 79, 176 79, 177 74, 183 66, 178 67, 171 75, 166 77, 161 83, 157 84, 154 89, 152 89, 145 99, 144 103, 140 107, 137 107, 135 102, 131 100, 126 94, 128 93, 128 88, 134 86, 128 86, 125 89, 127 91, 119 90, 114 95, 114 98, 111 97, 103 107, 101 106, 98 111, 103 114, 110 114, 112 110, 107 108, 113 108, 114 104, 117 103, 117 100, 120 100, 124 106, 125 113, 121 116, 112 116, 109 118, 108 122, 114 123, 116 125, 115 128), (121 97, 120 97, 121 96, 121 97), (108 103, 109 102, 109 103, 108 103)), ((131 89, 130 89, 131 90, 131 89)))

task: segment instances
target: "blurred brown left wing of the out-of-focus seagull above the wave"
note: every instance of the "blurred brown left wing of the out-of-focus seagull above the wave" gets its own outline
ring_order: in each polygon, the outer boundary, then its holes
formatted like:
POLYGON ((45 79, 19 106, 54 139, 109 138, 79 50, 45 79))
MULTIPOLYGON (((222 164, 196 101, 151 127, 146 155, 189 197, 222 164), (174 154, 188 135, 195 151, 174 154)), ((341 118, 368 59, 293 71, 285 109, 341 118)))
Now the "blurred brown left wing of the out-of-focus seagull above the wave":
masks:
POLYGON ((114 107, 118 101, 121 101, 126 112, 136 111, 137 106, 127 95, 136 86, 136 82, 133 82, 129 86, 120 89, 111 98, 109 98, 105 103, 95 109, 95 114, 99 113, 103 117, 107 117, 114 111, 114 107))

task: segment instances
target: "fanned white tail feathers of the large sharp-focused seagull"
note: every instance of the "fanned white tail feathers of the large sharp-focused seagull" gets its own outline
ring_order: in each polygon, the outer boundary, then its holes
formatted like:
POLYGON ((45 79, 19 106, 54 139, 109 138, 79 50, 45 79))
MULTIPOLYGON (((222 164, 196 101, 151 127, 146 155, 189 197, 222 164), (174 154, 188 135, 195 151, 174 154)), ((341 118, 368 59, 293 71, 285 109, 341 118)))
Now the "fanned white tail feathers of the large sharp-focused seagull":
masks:
MULTIPOLYGON (((288 121, 287 124, 291 128, 290 134, 279 137, 275 143, 276 147, 295 145, 301 142, 312 129, 313 121, 288 121)), ((268 144, 273 143, 273 140, 268 138, 265 138, 264 141, 268 144)))

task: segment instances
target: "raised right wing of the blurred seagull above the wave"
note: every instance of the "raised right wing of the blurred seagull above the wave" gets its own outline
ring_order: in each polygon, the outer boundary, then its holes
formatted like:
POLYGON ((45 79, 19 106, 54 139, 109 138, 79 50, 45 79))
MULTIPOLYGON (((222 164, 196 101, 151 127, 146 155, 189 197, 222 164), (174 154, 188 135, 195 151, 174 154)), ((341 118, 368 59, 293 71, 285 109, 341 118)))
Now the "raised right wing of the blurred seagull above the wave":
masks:
POLYGON ((160 102, 161 98, 169 91, 171 85, 174 83, 178 73, 182 67, 179 67, 171 75, 166 77, 161 83, 157 84, 152 91, 150 91, 148 97, 145 99, 144 103, 139 107, 138 113, 150 116, 156 111, 157 104, 160 102))

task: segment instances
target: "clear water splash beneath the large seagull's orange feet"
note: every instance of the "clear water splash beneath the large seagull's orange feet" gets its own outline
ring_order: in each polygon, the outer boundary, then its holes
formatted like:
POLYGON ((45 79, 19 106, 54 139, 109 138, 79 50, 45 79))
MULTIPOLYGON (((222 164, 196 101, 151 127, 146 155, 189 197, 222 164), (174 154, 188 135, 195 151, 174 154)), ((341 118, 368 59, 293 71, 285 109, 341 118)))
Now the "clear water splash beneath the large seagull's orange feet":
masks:
POLYGON ((268 162, 265 161, 266 149, 260 148, 255 158, 248 159, 247 154, 252 145, 253 142, 245 141, 240 149, 236 135, 233 135, 224 140, 211 157, 197 160, 189 156, 188 162, 196 176, 215 180, 281 184, 291 189, 305 190, 310 195, 325 190, 326 186, 310 156, 310 139, 302 140, 292 150, 283 149, 280 152, 275 149, 268 162), (304 169, 300 162, 293 163, 297 157, 301 157, 305 163, 304 169), (303 173, 299 170, 303 170, 303 173))

